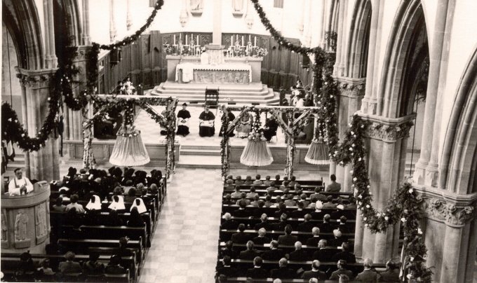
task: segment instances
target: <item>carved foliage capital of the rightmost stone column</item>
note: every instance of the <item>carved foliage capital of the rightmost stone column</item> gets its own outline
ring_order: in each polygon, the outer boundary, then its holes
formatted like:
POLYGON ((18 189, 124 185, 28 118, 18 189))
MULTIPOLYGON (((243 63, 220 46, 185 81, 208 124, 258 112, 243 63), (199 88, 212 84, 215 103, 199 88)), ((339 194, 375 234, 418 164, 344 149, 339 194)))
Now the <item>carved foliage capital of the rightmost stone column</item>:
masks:
POLYGON ((426 216, 456 228, 471 221, 475 210, 471 205, 457 206, 438 198, 426 199, 423 205, 426 216))

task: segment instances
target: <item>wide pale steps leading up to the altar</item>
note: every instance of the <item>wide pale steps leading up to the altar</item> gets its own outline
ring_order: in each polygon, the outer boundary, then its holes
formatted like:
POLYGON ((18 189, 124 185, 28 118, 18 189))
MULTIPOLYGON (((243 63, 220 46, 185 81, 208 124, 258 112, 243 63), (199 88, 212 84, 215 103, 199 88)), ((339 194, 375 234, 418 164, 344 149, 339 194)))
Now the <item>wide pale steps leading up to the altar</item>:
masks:
POLYGON ((207 89, 219 89, 219 103, 236 104, 278 104, 276 93, 262 83, 248 85, 216 85, 197 83, 172 83, 166 81, 151 90, 151 95, 177 97, 180 102, 204 102, 207 89))

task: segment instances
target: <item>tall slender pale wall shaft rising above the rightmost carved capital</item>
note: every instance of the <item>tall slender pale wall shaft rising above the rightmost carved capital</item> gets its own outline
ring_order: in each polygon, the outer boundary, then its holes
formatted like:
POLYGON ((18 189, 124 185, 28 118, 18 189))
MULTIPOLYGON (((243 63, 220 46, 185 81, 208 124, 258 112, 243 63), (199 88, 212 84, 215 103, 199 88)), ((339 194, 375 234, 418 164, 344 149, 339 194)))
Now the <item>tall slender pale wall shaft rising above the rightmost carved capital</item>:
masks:
POLYGON ((434 139, 434 115, 436 114, 447 10, 448 0, 438 0, 436 24, 434 25, 433 32, 434 39, 431 46, 429 46, 429 48, 431 48, 431 50, 429 50, 429 79, 427 83, 426 106, 424 108, 421 155, 419 156, 419 160, 417 160, 416 169, 414 171, 414 180, 417 184, 425 184, 426 186, 432 186, 437 179, 437 164, 429 165, 429 160, 433 146, 432 140, 434 139), (427 170, 429 170, 429 172, 427 172, 427 170))

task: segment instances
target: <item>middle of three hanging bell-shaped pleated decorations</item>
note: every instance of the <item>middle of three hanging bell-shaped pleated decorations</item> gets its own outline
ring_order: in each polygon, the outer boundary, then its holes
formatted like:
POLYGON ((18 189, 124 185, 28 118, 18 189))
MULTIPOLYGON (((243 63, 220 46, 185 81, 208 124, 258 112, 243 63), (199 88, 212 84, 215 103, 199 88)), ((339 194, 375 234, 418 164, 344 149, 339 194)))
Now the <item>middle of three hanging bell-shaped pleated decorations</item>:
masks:
POLYGON ((255 112, 255 119, 253 120, 252 130, 248 134, 247 145, 243 148, 240 163, 247 166, 267 166, 274 162, 274 158, 271 156, 267 139, 263 135, 262 123, 260 122, 261 111, 257 109, 251 111, 255 112))

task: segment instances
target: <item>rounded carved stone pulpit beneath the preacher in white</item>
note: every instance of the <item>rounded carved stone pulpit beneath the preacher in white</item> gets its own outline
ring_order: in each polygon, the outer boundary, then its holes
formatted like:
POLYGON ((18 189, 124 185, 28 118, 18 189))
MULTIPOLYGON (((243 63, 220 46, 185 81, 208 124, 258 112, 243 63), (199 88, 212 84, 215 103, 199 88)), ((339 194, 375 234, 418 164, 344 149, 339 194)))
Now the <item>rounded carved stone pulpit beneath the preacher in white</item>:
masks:
POLYGON ((27 195, 1 195, 1 251, 44 253, 50 235, 50 186, 34 184, 27 195))

